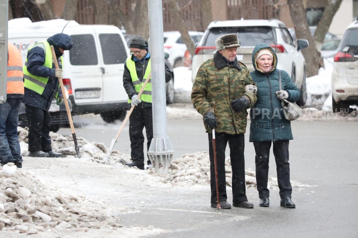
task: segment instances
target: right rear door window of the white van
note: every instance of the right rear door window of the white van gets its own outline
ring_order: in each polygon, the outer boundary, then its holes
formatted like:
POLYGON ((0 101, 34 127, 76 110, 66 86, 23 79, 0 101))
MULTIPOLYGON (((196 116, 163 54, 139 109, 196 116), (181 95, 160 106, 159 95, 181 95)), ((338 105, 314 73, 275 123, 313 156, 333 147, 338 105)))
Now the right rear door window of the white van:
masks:
POLYGON ((105 65, 123 64, 127 59, 126 48, 119 34, 100 34, 105 65))

